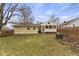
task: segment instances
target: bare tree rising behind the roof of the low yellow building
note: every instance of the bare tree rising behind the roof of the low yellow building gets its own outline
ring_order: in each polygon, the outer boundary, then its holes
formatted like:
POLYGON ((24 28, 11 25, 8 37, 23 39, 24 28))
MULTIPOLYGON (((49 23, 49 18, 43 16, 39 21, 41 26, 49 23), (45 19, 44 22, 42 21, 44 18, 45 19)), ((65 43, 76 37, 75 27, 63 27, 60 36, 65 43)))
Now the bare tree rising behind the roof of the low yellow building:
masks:
POLYGON ((21 18, 20 22, 26 24, 27 22, 33 22, 34 16, 29 6, 22 6, 20 8, 21 18))

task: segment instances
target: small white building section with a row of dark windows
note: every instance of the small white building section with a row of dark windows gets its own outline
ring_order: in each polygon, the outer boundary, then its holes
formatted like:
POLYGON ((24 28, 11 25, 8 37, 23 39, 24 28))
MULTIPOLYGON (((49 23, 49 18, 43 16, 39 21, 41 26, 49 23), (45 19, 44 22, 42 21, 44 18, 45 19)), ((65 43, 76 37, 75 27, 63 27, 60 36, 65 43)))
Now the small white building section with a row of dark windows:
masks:
POLYGON ((56 24, 52 22, 43 23, 41 24, 41 32, 42 33, 56 33, 57 26, 56 24))

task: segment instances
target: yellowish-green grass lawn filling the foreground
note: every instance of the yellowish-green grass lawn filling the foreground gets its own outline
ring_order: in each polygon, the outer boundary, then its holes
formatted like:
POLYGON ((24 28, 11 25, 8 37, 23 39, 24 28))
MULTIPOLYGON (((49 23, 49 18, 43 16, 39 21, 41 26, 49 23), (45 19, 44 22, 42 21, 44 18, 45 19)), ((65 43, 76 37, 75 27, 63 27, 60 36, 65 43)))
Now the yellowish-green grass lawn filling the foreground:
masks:
POLYGON ((59 56, 79 55, 70 45, 61 44, 54 34, 13 35, 0 38, 0 55, 59 56))

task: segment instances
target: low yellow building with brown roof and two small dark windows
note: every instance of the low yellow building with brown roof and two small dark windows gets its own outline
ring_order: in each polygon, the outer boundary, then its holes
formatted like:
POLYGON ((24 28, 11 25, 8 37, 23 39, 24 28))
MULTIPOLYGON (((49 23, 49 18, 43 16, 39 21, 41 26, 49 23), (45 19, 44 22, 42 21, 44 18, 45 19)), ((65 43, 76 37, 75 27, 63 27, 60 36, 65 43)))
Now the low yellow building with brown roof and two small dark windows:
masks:
POLYGON ((28 22, 26 24, 14 25, 15 34, 38 34, 39 25, 28 22))

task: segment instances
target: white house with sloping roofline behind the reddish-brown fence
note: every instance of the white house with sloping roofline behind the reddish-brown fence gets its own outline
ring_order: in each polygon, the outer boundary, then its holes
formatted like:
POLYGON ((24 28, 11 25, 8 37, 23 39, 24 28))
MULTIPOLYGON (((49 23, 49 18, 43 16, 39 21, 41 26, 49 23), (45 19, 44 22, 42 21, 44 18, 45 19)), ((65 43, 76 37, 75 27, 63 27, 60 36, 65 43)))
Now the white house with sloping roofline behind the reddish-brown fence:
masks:
POLYGON ((79 27, 79 18, 64 22, 60 27, 79 27))

